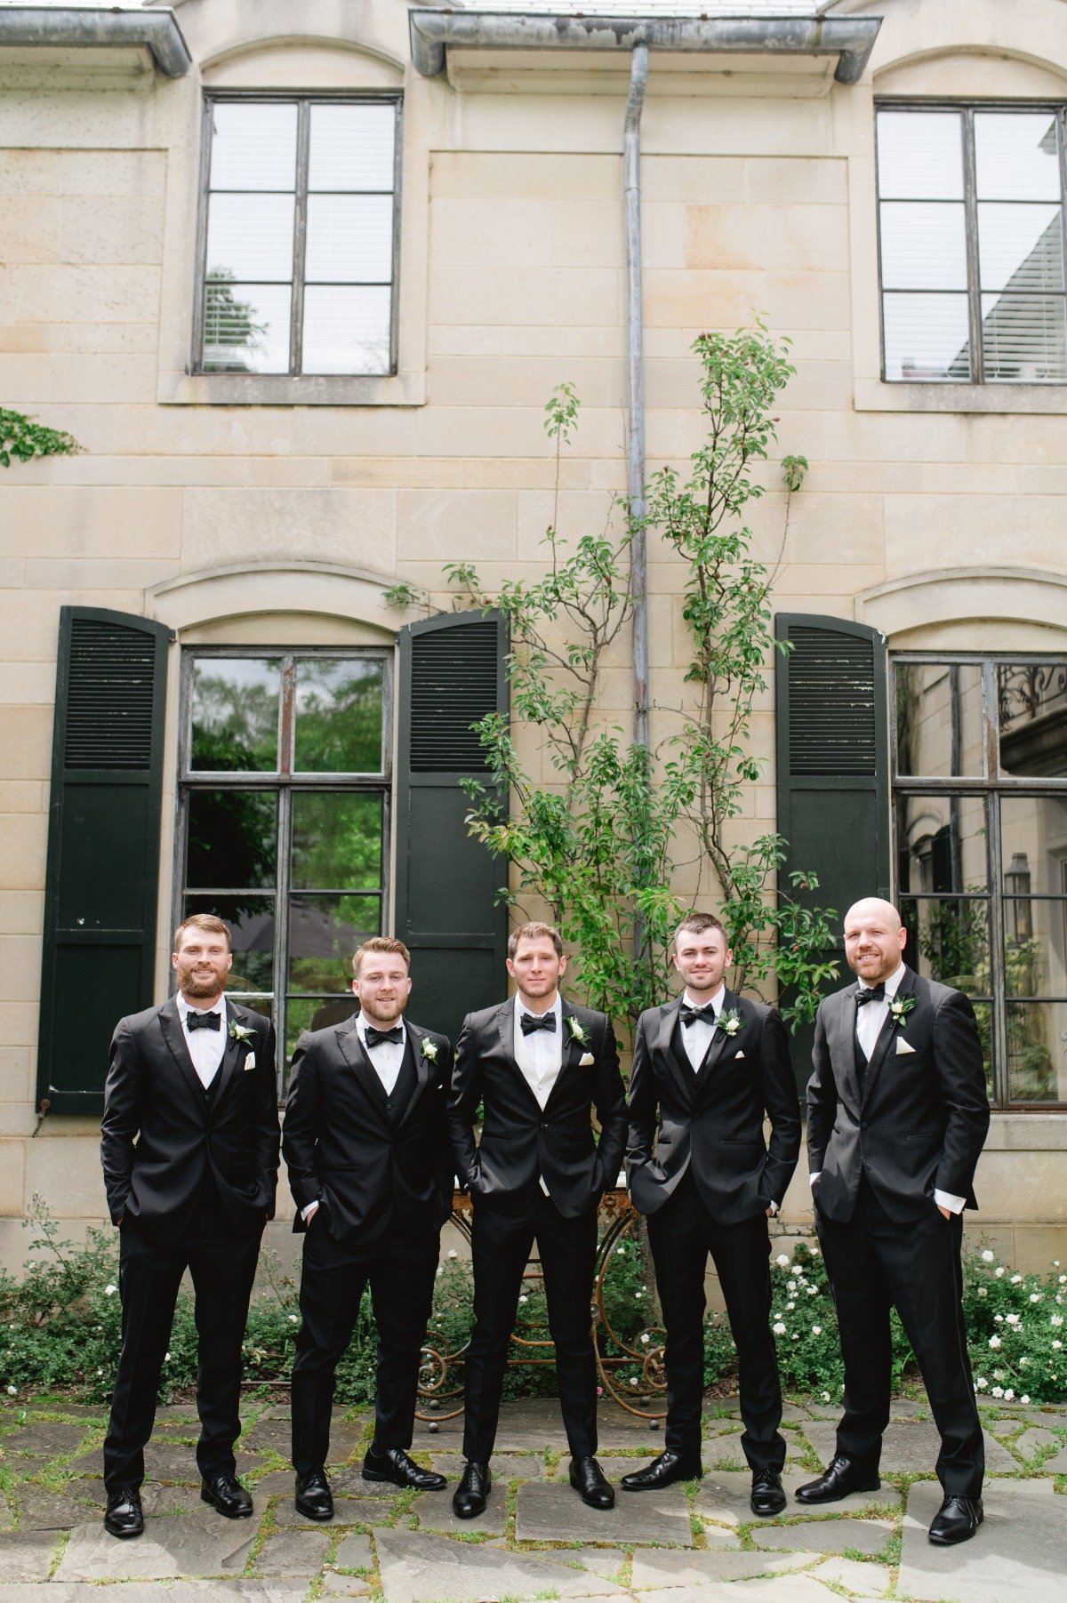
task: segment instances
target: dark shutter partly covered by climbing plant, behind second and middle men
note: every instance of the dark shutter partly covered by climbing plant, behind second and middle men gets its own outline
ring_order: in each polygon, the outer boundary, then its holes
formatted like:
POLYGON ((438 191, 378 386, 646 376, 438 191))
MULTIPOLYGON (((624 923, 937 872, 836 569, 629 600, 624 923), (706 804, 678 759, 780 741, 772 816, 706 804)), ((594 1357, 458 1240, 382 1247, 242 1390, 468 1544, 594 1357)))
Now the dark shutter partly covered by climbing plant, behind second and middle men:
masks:
POLYGON ((457 612, 401 630, 394 930, 410 947, 412 1018, 452 1042, 503 995, 508 866, 466 829, 465 777, 485 779, 471 725, 506 712, 503 619, 457 612))

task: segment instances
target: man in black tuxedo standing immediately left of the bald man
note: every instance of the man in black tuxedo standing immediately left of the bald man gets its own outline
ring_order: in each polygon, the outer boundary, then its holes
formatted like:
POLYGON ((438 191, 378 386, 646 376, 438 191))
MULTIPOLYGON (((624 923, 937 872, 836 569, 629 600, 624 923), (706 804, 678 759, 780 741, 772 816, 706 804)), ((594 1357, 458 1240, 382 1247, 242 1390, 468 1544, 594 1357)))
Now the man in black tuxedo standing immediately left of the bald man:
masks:
POLYGON ((785 1507, 785 1441, 767 1218, 782 1205, 801 1141, 788 1039, 774 1008, 726 989, 734 959, 711 914, 682 920, 673 955, 686 991, 641 1015, 626 1149, 630 1197, 649 1220, 666 1327, 666 1435, 665 1451, 622 1484, 649 1491, 703 1473, 703 1276, 711 1254, 737 1345, 751 1508, 772 1515, 785 1507))

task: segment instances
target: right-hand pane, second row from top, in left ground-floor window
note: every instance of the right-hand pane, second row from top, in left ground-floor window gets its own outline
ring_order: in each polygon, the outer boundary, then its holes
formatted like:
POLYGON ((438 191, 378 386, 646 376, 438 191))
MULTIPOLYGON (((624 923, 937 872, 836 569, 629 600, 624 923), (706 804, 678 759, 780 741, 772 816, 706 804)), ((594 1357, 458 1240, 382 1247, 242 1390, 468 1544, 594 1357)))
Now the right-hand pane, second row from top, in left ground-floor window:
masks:
POLYGON ((381 793, 293 792, 296 890, 378 890, 381 793))

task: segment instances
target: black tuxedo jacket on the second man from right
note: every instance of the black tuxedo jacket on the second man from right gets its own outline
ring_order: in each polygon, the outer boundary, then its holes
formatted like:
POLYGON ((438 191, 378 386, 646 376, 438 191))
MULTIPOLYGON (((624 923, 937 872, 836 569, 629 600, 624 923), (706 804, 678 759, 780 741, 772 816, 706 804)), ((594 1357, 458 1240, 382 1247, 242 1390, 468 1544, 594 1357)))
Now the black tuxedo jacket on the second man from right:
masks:
POLYGON ((700 1201, 721 1225, 766 1213, 785 1196, 801 1143, 785 1024, 774 1008, 727 991, 734 1036, 716 1029, 694 1074, 674 1048, 681 997, 641 1015, 630 1072, 626 1178, 641 1213, 655 1213, 692 1169, 700 1201), (658 1117, 657 1117, 658 1111, 658 1117), (771 1146, 764 1141, 771 1116, 771 1146), (655 1141, 655 1153, 652 1143, 655 1141))

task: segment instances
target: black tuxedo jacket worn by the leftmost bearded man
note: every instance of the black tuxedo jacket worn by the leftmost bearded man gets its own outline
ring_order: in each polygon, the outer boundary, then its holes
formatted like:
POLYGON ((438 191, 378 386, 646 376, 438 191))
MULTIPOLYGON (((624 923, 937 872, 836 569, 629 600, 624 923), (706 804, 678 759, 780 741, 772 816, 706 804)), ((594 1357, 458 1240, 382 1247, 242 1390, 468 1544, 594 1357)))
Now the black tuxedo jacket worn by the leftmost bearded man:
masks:
POLYGON ((149 1241, 176 1241, 211 1201, 211 1183, 236 1228, 274 1218, 274 1026, 227 1000, 223 1028, 226 1047, 208 1104, 175 997, 115 1026, 101 1124, 107 1210, 115 1223, 123 1213, 136 1218, 149 1241), (252 1040, 234 1040, 234 1023, 250 1029, 252 1040))

